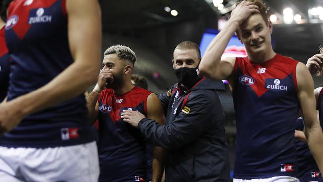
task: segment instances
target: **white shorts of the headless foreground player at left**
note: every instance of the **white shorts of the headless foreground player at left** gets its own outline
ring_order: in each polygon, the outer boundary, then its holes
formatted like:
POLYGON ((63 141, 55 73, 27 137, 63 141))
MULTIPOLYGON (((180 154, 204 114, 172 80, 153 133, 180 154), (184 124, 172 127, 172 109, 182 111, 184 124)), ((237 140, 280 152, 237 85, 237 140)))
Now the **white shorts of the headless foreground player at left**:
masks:
POLYGON ((54 148, 0 146, 0 182, 97 182, 96 142, 54 148))

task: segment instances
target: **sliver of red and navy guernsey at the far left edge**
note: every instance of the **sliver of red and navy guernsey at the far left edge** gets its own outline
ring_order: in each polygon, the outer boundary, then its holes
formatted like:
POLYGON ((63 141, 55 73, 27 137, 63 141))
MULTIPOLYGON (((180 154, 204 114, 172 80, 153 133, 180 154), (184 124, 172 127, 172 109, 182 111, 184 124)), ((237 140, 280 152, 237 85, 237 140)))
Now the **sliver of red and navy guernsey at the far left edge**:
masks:
POLYGON ((5 43, 5 27, 0 29, 0 102, 7 96, 9 87, 10 61, 5 43))

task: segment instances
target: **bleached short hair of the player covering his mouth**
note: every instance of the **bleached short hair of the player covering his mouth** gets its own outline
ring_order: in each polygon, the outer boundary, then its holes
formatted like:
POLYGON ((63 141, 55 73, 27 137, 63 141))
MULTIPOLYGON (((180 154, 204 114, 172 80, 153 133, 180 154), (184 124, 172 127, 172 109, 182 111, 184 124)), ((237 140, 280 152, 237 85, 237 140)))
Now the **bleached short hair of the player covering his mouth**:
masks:
POLYGON ((131 61, 133 65, 135 65, 135 62, 137 60, 135 52, 125 45, 114 45, 109 47, 104 52, 104 56, 109 54, 116 54, 119 59, 127 59, 131 61))

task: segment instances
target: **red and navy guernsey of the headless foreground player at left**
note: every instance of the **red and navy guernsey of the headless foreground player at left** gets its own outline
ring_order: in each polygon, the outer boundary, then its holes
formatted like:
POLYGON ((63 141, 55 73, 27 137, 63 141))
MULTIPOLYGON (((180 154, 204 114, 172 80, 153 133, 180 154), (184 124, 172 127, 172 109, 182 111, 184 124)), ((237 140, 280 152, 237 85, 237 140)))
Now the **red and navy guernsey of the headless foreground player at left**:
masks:
MULTIPOLYGON (((5 26, 12 59, 8 100, 44 86, 73 63, 65 4, 65 0, 14 0, 10 4, 5 26)), ((34 148, 92 141, 84 94, 25 117, 0 138, 1 146, 34 148)))

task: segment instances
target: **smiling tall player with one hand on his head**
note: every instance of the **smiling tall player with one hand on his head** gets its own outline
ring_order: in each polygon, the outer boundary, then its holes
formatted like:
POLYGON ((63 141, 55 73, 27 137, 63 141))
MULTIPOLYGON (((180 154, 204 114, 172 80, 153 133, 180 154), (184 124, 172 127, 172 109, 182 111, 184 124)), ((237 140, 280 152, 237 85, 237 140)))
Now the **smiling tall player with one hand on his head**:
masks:
POLYGON ((294 129, 299 107, 310 150, 323 172, 323 135, 306 66, 276 54, 261 0, 240 2, 200 63, 206 77, 229 80, 237 122, 234 182, 298 182, 294 129), (247 57, 221 56, 233 34, 247 57))

